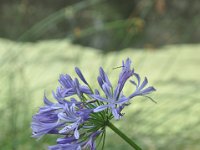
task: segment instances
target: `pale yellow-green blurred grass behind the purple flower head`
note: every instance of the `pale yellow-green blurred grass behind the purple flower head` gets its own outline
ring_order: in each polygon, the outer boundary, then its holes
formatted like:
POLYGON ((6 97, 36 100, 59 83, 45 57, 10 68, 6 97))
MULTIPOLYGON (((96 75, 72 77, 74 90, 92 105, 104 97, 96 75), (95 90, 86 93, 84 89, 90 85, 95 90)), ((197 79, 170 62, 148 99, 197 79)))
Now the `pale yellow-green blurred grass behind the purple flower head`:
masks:
MULTIPOLYGON (((15 43, 0 39, 0 149, 33 150, 53 145, 54 138, 36 141, 30 137, 31 115, 41 106, 44 90, 51 97, 59 74, 75 75, 75 66, 94 87, 99 66, 115 82, 119 70, 112 68, 126 57, 133 60, 136 72, 156 87, 152 97, 158 103, 137 98, 126 108, 125 117, 113 122, 144 149, 200 149, 199 56, 200 45, 126 49, 105 55, 68 40, 15 43)), ((131 148, 108 129, 105 149, 131 148)))

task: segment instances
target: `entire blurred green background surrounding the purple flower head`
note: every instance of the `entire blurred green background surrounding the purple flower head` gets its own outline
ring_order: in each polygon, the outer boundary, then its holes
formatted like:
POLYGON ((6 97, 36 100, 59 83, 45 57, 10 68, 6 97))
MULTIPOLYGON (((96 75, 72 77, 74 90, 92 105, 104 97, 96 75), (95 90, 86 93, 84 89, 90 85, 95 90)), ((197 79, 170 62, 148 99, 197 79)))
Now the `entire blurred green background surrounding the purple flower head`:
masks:
MULTIPOLYGON (((31 116, 61 73, 79 66, 93 87, 103 66, 116 83, 130 57, 157 104, 136 98, 116 126, 147 150, 200 149, 199 0, 1 0, 0 149, 43 150, 31 116)), ((127 89, 127 92, 129 89, 127 89)), ((107 130, 107 150, 129 150, 107 130)))

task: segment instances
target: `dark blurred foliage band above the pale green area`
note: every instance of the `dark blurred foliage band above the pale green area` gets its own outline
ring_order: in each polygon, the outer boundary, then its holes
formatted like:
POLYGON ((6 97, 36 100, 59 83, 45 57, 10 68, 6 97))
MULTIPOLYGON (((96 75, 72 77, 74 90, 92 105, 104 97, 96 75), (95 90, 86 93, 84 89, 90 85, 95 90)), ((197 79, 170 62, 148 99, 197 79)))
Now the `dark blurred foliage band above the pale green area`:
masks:
POLYGON ((157 47, 199 42, 199 18, 199 0, 1 0, 0 36, 67 37, 108 51, 157 47))

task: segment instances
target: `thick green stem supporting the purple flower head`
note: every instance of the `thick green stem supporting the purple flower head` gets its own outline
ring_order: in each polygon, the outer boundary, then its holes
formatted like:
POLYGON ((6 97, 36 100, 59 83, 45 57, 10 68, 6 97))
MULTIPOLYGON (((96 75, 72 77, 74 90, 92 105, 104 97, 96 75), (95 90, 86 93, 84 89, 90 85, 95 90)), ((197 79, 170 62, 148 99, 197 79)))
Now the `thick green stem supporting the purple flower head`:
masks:
POLYGON ((124 139, 131 147, 133 147, 136 150, 142 150, 135 142, 133 142, 129 137, 122 133, 111 122, 108 122, 107 126, 110 127, 115 133, 117 133, 122 139, 124 139))

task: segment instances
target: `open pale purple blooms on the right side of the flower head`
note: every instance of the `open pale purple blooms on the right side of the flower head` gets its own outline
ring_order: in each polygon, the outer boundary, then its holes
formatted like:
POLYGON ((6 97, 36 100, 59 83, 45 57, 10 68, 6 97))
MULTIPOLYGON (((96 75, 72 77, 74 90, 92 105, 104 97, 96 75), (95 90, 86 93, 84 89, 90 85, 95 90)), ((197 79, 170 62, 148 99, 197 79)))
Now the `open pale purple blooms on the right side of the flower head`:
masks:
POLYGON ((124 108, 124 106, 127 105, 127 102, 129 102, 131 98, 139 95, 146 95, 148 93, 155 91, 153 87, 147 87, 144 89, 144 87, 148 83, 146 78, 140 85, 140 76, 134 73, 134 69, 131 69, 131 60, 129 58, 126 60, 126 62, 124 61, 122 62, 122 71, 119 75, 118 84, 114 90, 114 93, 112 92, 113 91, 112 85, 102 68, 100 68, 100 76, 98 77, 98 82, 106 97, 100 96, 99 94, 93 94, 91 96, 92 98, 98 101, 104 102, 105 105, 100 105, 94 108, 93 111, 100 112, 105 109, 109 109, 112 112, 114 118, 117 120, 121 118, 122 116, 121 111, 124 108), (131 83, 136 85, 136 90, 133 92, 133 94, 126 97, 123 95, 122 90, 127 80, 133 75, 136 77, 138 81, 138 83, 136 84, 133 80, 131 80, 131 83))

